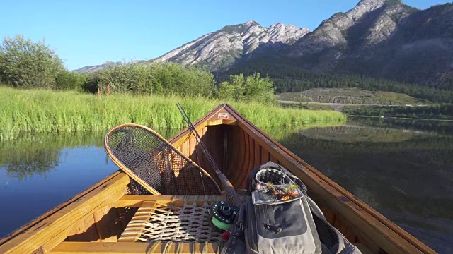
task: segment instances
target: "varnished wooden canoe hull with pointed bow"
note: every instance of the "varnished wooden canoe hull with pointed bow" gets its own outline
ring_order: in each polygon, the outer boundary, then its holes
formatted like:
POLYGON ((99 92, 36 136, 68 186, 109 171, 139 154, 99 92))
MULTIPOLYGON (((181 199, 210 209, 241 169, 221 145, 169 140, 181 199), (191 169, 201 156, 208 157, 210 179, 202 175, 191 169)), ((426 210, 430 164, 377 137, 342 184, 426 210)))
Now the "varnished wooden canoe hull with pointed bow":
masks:
MULTIPOLYGON (((236 188, 248 172, 269 160, 298 176, 326 218, 363 253, 435 253, 382 214, 328 179, 243 118, 221 104, 194 123, 219 168, 236 188)), ((184 155, 214 175, 187 129, 169 140, 184 155)), ((122 242, 118 237, 137 207, 169 196, 128 195, 130 178, 122 171, 103 179, 71 200, 42 214, 0 240, 0 253, 162 253, 217 252, 216 244, 122 242)), ((219 196, 220 197, 220 196, 219 196)), ((221 197, 220 197, 221 198, 221 197)), ((183 197, 176 197, 176 201, 183 197)), ((175 197, 173 197, 173 201, 175 197)), ((156 207, 156 205, 154 205, 156 207)))

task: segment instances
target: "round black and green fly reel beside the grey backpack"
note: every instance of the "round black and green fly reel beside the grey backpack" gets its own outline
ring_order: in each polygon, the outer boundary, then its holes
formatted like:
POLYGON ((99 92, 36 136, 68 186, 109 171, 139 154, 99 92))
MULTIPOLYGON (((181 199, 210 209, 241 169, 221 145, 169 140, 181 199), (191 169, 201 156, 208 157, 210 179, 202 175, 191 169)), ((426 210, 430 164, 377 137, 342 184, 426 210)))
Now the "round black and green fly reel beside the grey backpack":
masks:
POLYGON ((238 213, 239 209, 235 205, 224 201, 215 202, 210 209, 210 225, 217 231, 229 230, 238 213))

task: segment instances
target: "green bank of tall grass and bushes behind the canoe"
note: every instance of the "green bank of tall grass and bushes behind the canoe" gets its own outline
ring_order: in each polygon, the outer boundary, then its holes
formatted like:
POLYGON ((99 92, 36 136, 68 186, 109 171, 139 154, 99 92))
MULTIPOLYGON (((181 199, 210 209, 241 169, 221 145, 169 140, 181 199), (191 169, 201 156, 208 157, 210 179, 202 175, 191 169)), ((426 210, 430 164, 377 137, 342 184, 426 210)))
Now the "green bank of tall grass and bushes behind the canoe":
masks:
POLYGON ((24 131, 103 131, 120 123, 182 128, 176 102, 193 120, 230 102, 261 128, 345 121, 333 111, 279 107, 273 81, 259 73, 217 83, 194 66, 125 63, 79 74, 67 71, 43 42, 16 36, 0 49, 0 140, 24 131))

